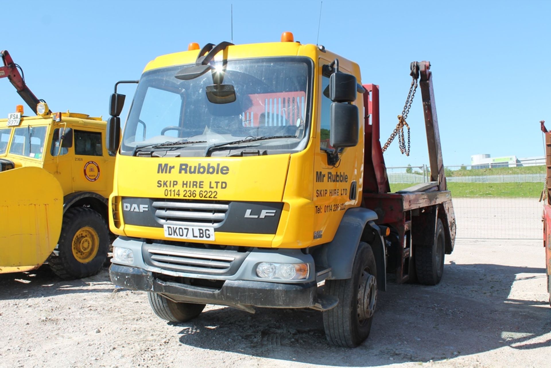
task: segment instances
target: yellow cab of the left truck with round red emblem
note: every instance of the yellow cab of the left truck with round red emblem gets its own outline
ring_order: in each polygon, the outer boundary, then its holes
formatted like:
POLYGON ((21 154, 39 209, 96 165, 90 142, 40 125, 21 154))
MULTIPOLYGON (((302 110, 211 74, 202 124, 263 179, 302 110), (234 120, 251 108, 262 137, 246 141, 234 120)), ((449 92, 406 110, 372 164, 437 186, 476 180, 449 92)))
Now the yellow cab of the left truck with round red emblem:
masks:
POLYGON ((63 195, 90 191, 111 193, 115 158, 105 149, 105 121, 85 114, 21 116, 8 126, 0 119, 0 160, 8 167, 40 167, 58 178, 63 195))

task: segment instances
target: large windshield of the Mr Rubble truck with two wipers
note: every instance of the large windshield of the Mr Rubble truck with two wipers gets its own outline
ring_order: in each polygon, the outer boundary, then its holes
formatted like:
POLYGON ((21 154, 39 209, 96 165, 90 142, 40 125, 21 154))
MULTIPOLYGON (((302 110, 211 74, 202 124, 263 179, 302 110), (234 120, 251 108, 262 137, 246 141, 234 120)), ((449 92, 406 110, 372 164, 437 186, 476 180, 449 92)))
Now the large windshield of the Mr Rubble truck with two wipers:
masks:
POLYGON ((190 157, 303 150, 309 132, 311 63, 305 57, 220 61, 188 81, 175 77, 185 66, 147 72, 128 114, 121 154, 190 157), (233 86, 235 101, 210 102, 207 91, 214 80, 233 86), (255 140, 259 137, 263 139, 255 140), (213 145, 218 147, 212 150, 213 145))

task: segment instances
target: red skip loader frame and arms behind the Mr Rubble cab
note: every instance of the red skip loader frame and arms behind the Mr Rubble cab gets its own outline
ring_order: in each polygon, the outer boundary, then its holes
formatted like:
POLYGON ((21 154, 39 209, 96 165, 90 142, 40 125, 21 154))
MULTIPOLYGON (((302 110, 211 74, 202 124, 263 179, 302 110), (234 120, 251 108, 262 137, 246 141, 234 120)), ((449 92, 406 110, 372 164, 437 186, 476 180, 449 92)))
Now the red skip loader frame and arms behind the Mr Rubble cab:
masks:
POLYGON ((438 218, 444 225, 446 254, 452 252, 455 243, 455 214, 450 192, 446 189, 433 80, 429 68, 428 61, 413 62, 410 66, 410 76, 414 78, 414 82, 420 79, 418 86, 423 98, 430 180, 433 182, 425 183, 428 184, 426 187, 424 184, 414 185, 397 193, 390 193, 379 140, 379 86, 364 84, 366 91, 363 95, 365 148, 362 205, 376 212, 375 223, 390 226, 397 233, 397 247, 388 251, 388 257, 396 260, 396 279, 399 283, 408 281, 413 275, 415 244, 423 242, 426 234, 430 234, 429 237, 435 234, 438 218))

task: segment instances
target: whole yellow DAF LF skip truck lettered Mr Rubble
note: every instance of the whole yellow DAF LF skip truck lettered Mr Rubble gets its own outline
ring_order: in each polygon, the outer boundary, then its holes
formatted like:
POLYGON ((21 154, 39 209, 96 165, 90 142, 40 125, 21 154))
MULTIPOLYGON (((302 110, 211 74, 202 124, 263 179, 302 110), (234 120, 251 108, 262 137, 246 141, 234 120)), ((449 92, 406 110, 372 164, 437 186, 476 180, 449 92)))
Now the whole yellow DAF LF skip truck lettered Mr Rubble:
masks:
MULTIPOLYGON (((206 303, 313 308, 330 343, 359 345, 387 274, 435 285, 453 249, 429 67, 411 75, 431 182, 389 193, 379 88, 358 83, 356 63, 291 33, 149 62, 120 145, 120 118, 107 121, 112 282, 147 291, 167 321, 206 303)), ((111 95, 112 110, 123 98, 111 95)))

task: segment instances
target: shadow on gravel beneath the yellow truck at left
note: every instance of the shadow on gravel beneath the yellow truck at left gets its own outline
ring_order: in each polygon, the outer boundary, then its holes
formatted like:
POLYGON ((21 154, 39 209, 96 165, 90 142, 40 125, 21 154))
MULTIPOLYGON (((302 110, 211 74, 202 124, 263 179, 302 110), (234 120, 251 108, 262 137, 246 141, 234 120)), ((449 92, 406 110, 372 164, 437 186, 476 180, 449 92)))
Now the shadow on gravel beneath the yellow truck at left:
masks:
POLYGON ((99 274, 80 280, 62 280, 52 273, 47 265, 29 272, 0 274, 0 300, 18 300, 50 297, 62 294, 90 292, 112 292, 114 286, 109 280, 109 268, 104 267, 99 274), (82 289, 90 283, 105 283, 103 289, 82 289))

